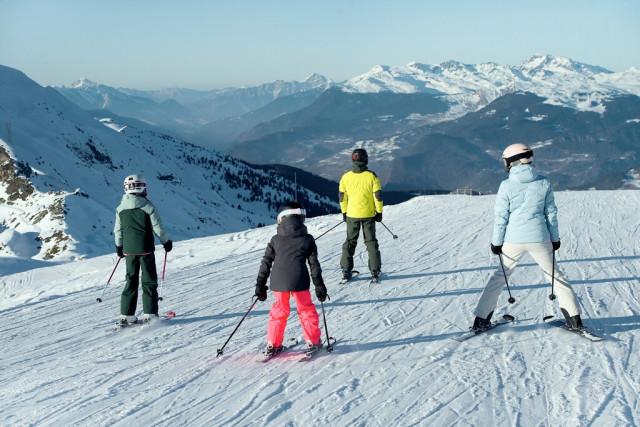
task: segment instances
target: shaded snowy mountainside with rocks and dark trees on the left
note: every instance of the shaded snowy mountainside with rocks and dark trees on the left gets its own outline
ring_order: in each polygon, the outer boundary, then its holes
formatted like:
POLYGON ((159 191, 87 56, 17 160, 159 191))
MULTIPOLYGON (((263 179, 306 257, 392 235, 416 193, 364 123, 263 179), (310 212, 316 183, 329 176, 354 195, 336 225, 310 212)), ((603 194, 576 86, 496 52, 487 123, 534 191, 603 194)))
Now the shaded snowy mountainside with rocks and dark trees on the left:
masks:
POLYGON ((174 241, 272 223, 297 198, 310 216, 337 203, 226 154, 95 117, 0 66, 0 256, 64 261, 113 250, 124 178, 147 179, 174 241))

